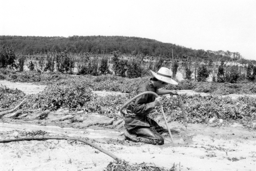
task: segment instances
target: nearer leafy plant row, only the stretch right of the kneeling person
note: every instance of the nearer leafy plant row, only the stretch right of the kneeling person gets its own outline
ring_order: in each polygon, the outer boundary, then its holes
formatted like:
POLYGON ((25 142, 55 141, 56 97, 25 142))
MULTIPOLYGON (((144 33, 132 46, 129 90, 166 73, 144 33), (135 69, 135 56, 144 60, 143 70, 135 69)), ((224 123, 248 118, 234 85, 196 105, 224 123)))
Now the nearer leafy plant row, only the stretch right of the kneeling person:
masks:
MULTIPOLYGON (((207 120, 215 116, 220 119, 245 119, 251 123, 256 118, 256 99, 240 97, 238 99, 221 98, 219 96, 187 96, 180 95, 186 108, 189 123, 207 123, 207 120)), ((175 121, 182 122, 183 114, 178 105, 177 98, 163 98, 163 107, 166 115, 170 115, 175 121)))

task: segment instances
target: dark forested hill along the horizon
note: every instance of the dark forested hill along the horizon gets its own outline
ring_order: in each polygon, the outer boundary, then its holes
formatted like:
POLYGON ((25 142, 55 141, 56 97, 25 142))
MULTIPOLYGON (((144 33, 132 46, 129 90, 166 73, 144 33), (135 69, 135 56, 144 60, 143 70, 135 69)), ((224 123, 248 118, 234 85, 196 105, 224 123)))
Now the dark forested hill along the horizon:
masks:
POLYGON ((11 46, 16 51, 43 52, 68 51, 74 53, 111 53, 118 50, 122 54, 144 56, 199 57, 210 59, 238 60, 238 52, 204 51, 186 48, 172 43, 124 36, 71 36, 71 37, 38 37, 38 36, 0 36, 0 46, 11 46))

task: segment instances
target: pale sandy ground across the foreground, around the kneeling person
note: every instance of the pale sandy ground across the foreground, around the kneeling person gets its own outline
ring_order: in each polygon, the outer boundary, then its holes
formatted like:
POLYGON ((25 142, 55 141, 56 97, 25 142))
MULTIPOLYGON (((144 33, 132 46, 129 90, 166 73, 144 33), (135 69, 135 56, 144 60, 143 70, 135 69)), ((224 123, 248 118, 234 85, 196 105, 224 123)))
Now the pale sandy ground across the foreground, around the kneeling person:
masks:
MULTIPOLYGON (((0 139, 64 135, 90 141, 130 165, 146 162, 169 169, 174 164, 182 171, 255 170, 255 132, 237 123, 220 128, 216 124, 188 124, 185 131, 182 124, 171 122, 174 143, 170 142, 168 133, 164 133, 164 145, 149 145, 126 140, 122 135, 123 123, 114 126, 117 121, 111 122, 107 116, 88 113, 80 116, 84 117, 83 122, 60 121, 58 113, 32 121, 2 118, 0 139)), ((27 117, 33 118, 35 114, 27 117)), ((159 124, 166 128, 163 121, 159 124)), ((74 140, 0 143, 0 170, 104 170, 113 160, 74 140)))

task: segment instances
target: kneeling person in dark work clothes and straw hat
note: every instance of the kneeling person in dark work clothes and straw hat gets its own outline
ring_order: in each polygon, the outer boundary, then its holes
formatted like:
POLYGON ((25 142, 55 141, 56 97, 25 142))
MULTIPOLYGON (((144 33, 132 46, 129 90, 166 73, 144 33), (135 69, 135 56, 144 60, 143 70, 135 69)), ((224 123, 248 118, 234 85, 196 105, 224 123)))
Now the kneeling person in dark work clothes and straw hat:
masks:
MULTIPOLYGON (((150 80, 140 85, 133 93, 131 98, 140 93, 148 91, 155 92, 158 95, 178 94, 176 90, 160 89, 165 87, 167 84, 178 85, 178 83, 172 79, 171 70, 162 67, 157 73, 153 71, 151 71, 151 73, 154 78, 150 78, 150 80)), ((136 100, 133 100, 127 106, 127 114, 124 116, 125 128, 128 132, 128 134, 124 134, 125 137, 136 142, 141 141, 154 145, 164 144, 164 138, 160 135, 164 130, 163 127, 159 126, 148 115, 155 110, 156 106, 160 106, 161 103, 162 98, 156 98, 153 94, 144 94, 138 97, 136 100), (137 136, 132 136, 132 134, 137 136)))

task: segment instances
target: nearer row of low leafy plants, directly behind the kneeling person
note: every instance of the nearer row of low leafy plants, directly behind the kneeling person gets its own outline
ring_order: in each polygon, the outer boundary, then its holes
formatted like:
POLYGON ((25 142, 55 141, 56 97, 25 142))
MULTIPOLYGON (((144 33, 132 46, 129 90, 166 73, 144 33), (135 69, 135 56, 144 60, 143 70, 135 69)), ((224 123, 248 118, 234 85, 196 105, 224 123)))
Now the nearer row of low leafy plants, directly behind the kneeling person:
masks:
MULTIPOLYGON (((184 102, 189 123, 207 123, 210 118, 215 116, 216 119, 240 122, 251 129, 253 128, 252 123, 256 122, 255 98, 240 97, 232 100, 216 95, 202 97, 183 94, 180 96, 184 102)), ((25 97, 28 100, 23 105, 23 109, 41 108, 55 111, 58 108, 68 108, 120 119, 121 116, 117 115, 117 112, 130 99, 130 94, 101 97, 93 94, 88 85, 74 85, 72 82, 69 86, 57 85, 47 88, 39 94, 27 96, 17 90, 0 87, 0 108, 13 107, 25 97)), ((183 122, 183 114, 176 97, 163 97, 163 107, 165 114, 167 117, 171 117, 172 121, 183 122)), ((156 108, 156 112, 150 115, 153 118, 162 117, 159 108, 156 108)))

